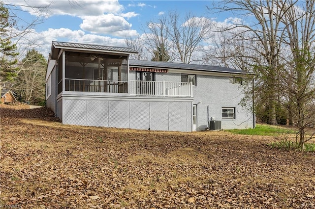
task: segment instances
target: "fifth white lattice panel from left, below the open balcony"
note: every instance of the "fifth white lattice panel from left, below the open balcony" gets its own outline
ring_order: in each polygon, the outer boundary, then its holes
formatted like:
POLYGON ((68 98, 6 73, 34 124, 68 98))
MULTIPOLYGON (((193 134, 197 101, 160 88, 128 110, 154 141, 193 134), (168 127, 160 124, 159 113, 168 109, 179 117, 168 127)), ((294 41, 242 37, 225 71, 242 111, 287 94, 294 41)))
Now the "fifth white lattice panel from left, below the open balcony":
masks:
POLYGON ((150 130, 168 131, 168 102, 150 102, 150 130))

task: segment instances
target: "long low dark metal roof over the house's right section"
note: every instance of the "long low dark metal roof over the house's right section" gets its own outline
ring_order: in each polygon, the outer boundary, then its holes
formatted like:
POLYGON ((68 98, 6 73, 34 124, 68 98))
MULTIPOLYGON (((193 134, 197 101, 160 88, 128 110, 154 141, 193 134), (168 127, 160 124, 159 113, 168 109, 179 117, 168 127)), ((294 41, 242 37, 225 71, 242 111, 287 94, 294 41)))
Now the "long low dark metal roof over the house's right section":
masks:
POLYGON ((210 65, 196 65, 196 64, 184 64, 174 62, 157 62, 157 61, 143 61, 143 60, 129 60, 129 66, 137 67, 154 67, 163 69, 180 69, 180 70, 197 70, 207 72, 218 72, 218 73, 233 73, 233 74, 251 74, 246 73, 242 70, 236 70, 232 68, 210 66, 210 65))

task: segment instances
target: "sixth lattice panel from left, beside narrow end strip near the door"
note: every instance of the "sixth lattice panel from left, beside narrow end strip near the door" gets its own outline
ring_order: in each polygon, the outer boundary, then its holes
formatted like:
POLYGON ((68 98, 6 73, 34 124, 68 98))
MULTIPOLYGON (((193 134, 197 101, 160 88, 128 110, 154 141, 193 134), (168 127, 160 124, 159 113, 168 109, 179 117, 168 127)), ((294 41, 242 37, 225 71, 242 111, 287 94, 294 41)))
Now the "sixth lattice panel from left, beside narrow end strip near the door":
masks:
POLYGON ((169 131, 186 131, 186 103, 169 102, 169 131))

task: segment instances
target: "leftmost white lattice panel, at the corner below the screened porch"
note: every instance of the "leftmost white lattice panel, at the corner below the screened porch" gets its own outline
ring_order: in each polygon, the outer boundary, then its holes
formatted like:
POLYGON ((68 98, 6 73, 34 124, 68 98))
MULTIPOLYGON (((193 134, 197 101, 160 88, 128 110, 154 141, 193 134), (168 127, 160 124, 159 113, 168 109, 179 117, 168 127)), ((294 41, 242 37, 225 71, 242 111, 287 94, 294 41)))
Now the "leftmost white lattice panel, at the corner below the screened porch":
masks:
POLYGON ((63 100, 63 123, 86 126, 86 100, 63 100))

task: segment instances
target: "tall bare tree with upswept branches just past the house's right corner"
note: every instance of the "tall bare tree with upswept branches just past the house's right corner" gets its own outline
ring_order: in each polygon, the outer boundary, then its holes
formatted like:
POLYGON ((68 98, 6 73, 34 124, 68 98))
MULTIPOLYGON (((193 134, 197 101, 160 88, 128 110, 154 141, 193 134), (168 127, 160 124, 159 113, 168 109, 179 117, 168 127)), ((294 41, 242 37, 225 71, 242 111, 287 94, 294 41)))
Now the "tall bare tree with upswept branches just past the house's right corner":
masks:
MULTIPOLYGON (((253 16, 252 24, 235 23, 221 31, 234 30, 240 28, 235 38, 244 39, 250 42, 256 42, 254 45, 247 45, 254 54, 263 57, 263 62, 253 66, 255 73, 259 73, 263 81, 262 100, 266 101, 268 111, 268 123, 276 125, 276 104, 277 104, 277 71, 280 70, 280 55, 282 50, 282 41, 284 27, 282 18, 295 2, 288 4, 287 7, 280 7, 276 0, 225 0, 214 9, 221 12, 232 12, 242 17, 253 16), (246 33, 252 35, 247 37, 246 33)), ((208 7, 209 8, 209 7, 208 7)), ((213 8, 209 8, 213 11, 213 8)), ((254 59, 255 57, 252 56, 254 59)))

